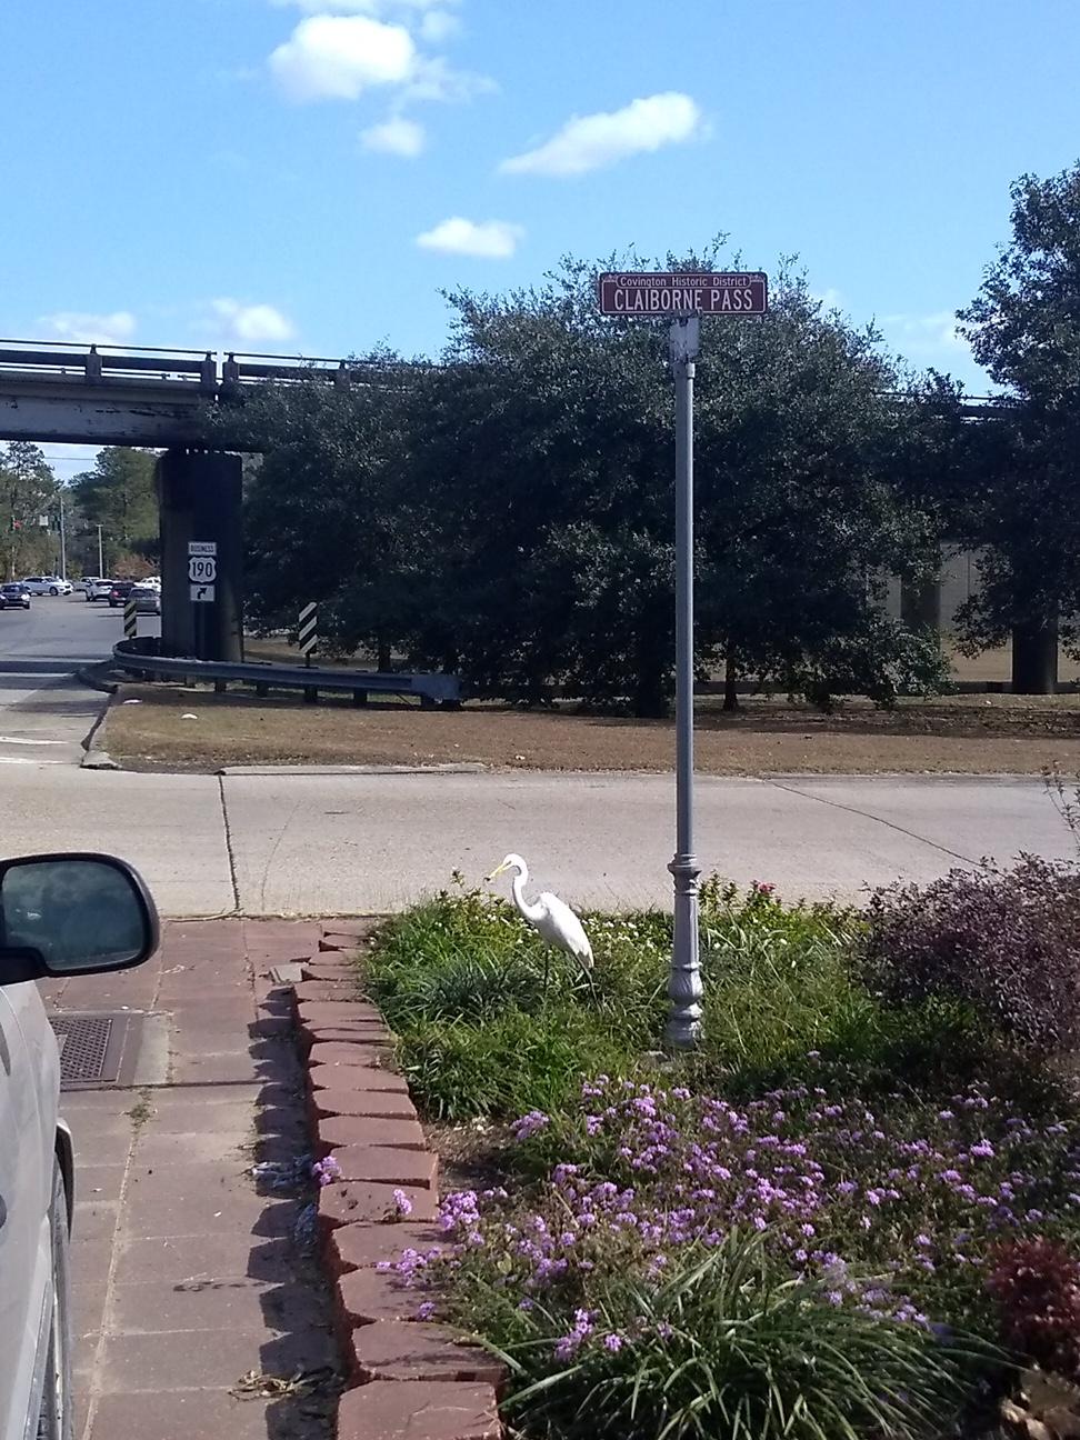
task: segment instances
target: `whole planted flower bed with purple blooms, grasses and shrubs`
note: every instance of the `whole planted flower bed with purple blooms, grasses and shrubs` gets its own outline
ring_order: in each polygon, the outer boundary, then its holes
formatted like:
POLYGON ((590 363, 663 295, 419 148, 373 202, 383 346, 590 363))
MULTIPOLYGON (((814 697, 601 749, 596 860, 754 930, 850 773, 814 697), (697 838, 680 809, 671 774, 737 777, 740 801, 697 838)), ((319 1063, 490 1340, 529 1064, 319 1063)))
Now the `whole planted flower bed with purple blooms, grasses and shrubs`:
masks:
MULTIPOLYGON (((890 933, 943 952, 919 900, 890 933)), ((1080 1112, 992 973, 896 1002, 860 917, 711 886, 707 1041, 657 1068, 667 922, 588 924, 595 984, 475 896, 372 968, 422 1110, 517 1112, 504 1185, 387 1267, 505 1359, 523 1436, 975 1434, 1009 1354, 1080 1355, 1080 1112)), ((1067 973, 1070 929, 1040 933, 1067 973)))

